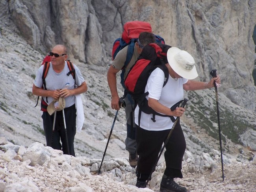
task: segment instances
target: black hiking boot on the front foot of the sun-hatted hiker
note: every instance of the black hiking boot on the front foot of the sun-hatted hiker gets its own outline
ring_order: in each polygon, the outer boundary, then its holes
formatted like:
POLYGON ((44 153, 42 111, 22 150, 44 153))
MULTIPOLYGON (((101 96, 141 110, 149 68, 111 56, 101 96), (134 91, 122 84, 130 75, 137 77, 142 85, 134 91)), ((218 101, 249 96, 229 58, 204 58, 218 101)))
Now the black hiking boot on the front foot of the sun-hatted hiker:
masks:
POLYGON ((187 192, 187 189, 178 185, 173 178, 164 175, 160 184, 160 192, 187 192))

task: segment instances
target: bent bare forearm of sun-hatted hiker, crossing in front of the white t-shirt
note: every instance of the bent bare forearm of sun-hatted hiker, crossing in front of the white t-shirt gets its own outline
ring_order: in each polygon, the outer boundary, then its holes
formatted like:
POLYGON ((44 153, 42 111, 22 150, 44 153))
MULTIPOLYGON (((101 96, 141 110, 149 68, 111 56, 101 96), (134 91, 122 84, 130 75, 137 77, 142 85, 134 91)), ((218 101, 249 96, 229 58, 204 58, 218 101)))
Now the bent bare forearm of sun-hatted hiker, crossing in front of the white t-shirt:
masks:
POLYGON ((170 108, 165 107, 161 103, 158 102, 156 99, 148 98, 148 106, 154 109, 158 113, 167 114, 169 116, 182 116, 185 112, 183 107, 177 107, 174 111, 171 111, 170 108))

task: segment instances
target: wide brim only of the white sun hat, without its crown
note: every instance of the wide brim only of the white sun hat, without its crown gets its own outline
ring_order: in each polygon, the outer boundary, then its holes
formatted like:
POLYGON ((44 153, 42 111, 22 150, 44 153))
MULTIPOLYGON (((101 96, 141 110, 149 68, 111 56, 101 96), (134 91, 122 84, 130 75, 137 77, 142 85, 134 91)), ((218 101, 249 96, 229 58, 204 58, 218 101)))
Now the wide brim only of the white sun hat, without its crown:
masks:
POLYGON ((197 74, 197 69, 196 69, 195 65, 193 66, 193 68, 191 70, 187 70, 187 69, 182 68, 175 61, 174 55, 176 55, 180 51, 181 50, 179 48, 176 48, 176 47, 171 47, 171 48, 168 49, 168 51, 167 51, 167 60, 168 60, 169 65, 174 70, 174 72, 176 72, 176 74, 178 74, 182 78, 186 78, 186 79, 195 79, 195 78, 197 78, 198 74, 197 74))

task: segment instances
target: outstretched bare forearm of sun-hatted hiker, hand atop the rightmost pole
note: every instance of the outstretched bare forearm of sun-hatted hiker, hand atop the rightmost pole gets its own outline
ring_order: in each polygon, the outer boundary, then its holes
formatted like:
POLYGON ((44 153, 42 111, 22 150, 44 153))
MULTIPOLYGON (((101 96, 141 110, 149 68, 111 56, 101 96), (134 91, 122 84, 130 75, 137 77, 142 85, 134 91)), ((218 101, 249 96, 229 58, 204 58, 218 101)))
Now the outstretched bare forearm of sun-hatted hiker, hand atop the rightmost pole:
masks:
POLYGON ((221 78, 217 76, 217 78, 211 78, 209 82, 188 80, 187 83, 183 84, 183 89, 184 90, 208 89, 208 88, 214 87, 214 81, 220 84, 221 78))

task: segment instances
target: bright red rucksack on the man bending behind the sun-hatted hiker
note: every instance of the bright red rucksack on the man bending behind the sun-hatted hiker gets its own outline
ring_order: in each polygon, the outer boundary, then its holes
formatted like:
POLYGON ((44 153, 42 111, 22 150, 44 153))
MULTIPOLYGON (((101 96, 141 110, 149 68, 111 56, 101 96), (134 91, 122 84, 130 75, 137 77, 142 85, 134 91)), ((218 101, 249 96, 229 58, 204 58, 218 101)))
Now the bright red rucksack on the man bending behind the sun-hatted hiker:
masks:
MULTIPOLYGON (((112 48, 112 60, 115 59, 117 53, 122 50, 124 47, 128 46, 128 51, 126 55, 126 61, 124 63, 124 67, 122 68, 121 73, 121 83, 124 82, 124 74, 125 68, 130 63, 132 59, 132 55, 134 52, 134 45, 137 39, 139 38, 139 34, 141 32, 152 32, 152 28, 150 23, 143 21, 130 21, 124 24, 124 30, 122 32, 122 37, 115 40, 112 48)), ((156 42, 165 44, 165 41, 159 35, 156 35, 156 42)))

